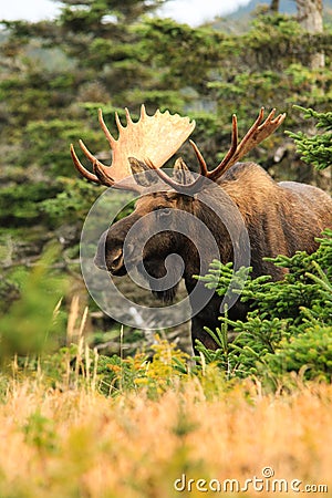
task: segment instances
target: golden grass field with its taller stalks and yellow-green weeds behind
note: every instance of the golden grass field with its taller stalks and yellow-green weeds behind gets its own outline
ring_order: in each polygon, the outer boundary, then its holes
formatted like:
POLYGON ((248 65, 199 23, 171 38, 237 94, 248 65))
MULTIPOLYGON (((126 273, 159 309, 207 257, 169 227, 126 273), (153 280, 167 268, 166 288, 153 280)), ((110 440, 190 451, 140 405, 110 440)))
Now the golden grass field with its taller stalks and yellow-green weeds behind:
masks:
POLYGON ((68 347, 2 360, 0 498, 332 497, 331 384, 194 374, 157 336, 152 361, 112 363, 86 318, 73 300, 68 347))

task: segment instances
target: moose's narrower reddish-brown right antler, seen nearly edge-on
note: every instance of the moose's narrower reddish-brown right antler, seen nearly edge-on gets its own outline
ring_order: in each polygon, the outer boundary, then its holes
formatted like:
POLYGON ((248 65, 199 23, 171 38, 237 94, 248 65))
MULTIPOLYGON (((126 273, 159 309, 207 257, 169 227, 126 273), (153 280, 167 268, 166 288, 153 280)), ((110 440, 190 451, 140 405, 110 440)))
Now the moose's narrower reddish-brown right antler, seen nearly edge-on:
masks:
POLYGON ((221 163, 211 172, 208 170, 206 162, 204 160, 203 155, 200 154, 197 145, 190 142, 197 159, 200 165, 200 174, 212 181, 216 181, 224 173, 227 172, 235 163, 240 160, 246 154, 248 154, 253 147, 259 145, 262 141, 264 141, 268 136, 276 132, 276 129, 281 125, 286 117, 286 113, 279 114, 274 118, 276 108, 273 108, 266 121, 263 121, 264 116, 264 107, 260 108, 259 115, 251 126, 251 128, 247 132, 245 137, 238 144, 238 122, 236 114, 232 115, 232 132, 231 132, 231 145, 227 154, 225 155, 221 163))

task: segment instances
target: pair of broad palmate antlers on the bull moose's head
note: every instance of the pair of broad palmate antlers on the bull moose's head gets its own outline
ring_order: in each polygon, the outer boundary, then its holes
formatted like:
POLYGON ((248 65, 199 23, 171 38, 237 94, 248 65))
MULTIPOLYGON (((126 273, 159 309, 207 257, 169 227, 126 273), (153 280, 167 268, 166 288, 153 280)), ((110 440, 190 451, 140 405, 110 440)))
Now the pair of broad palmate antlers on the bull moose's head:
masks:
MULTIPOLYGON (((141 116, 137 123, 132 121, 131 114, 125 108, 127 125, 123 126, 117 113, 115 121, 118 129, 118 138, 115 139, 110 133, 102 111, 98 110, 98 120, 101 127, 110 143, 113 152, 113 162, 111 166, 102 164, 80 141, 80 146, 85 156, 93 164, 93 173, 85 169, 80 162, 73 145, 71 154, 76 169, 89 180, 106 186, 116 186, 117 188, 138 189, 134 183, 127 184, 125 178, 132 175, 129 167, 131 158, 143 160, 145 165, 157 173, 159 178, 172 188, 180 191, 195 193, 204 187, 205 178, 217 181, 235 163, 240 160, 253 147, 270 136, 283 122, 286 114, 274 117, 273 108, 266 121, 263 121, 264 107, 261 107, 259 115, 247 132, 245 137, 238 143, 237 116, 232 115, 231 145, 221 163, 211 172, 208 170, 206 162, 199 152, 197 145, 189 141, 197 156, 200 175, 190 184, 179 184, 166 175, 160 167, 178 151, 186 138, 195 128, 195 121, 189 117, 181 117, 178 114, 169 114, 168 111, 160 113, 159 110, 153 116, 146 114, 145 106, 141 107, 141 116), (117 184, 121 181, 120 184, 117 184)), ((139 190, 139 189, 138 189, 139 190)))

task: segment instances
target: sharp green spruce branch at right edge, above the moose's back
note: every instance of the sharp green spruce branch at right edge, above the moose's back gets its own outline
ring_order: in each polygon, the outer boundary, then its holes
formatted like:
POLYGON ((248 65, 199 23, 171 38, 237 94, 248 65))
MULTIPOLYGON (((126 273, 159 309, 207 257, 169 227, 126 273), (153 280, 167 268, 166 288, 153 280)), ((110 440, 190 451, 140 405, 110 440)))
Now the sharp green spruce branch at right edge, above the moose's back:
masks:
POLYGON ((325 132, 314 136, 308 136, 303 132, 287 133, 294 139, 302 160, 314 165, 317 169, 325 169, 332 165, 332 112, 319 113, 298 105, 294 107, 302 111, 307 120, 314 118, 317 128, 325 132))

